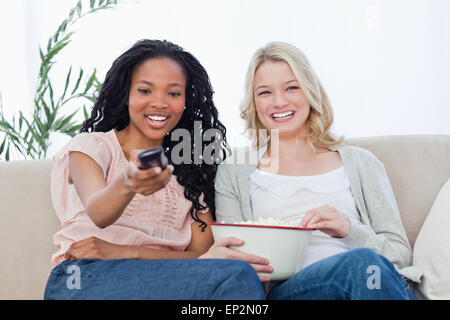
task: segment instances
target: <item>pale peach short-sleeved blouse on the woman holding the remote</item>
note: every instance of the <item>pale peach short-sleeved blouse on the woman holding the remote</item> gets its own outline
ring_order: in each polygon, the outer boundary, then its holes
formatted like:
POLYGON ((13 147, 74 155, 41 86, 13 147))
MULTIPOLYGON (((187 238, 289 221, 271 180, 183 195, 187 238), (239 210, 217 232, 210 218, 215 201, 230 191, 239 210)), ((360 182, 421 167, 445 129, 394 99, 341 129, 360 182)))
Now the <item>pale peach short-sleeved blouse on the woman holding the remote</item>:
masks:
POLYGON ((64 253, 73 242, 91 236, 115 244, 153 249, 182 251, 189 245, 194 221, 189 214, 192 202, 184 197, 184 187, 176 176, 172 175, 166 187, 152 195, 136 194, 122 216, 101 229, 89 218, 75 186, 69 183, 71 151, 85 153, 95 160, 103 170, 106 183, 128 165, 115 130, 78 134, 53 157, 51 195, 61 221, 61 229, 53 236, 58 248, 52 256, 53 267, 64 261, 64 253))

